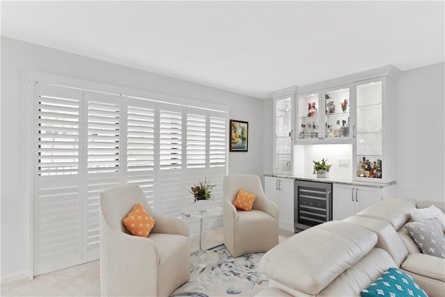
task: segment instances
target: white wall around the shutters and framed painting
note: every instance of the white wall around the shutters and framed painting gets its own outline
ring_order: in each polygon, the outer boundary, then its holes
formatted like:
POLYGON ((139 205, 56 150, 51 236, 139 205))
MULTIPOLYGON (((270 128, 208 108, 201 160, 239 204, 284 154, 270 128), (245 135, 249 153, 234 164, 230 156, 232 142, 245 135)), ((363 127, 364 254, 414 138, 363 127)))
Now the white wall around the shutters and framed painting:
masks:
POLYGON ((65 51, 1 38, 1 280, 29 269, 30 70, 229 106, 249 122, 248 152, 229 153, 229 173, 263 173, 262 100, 65 51))

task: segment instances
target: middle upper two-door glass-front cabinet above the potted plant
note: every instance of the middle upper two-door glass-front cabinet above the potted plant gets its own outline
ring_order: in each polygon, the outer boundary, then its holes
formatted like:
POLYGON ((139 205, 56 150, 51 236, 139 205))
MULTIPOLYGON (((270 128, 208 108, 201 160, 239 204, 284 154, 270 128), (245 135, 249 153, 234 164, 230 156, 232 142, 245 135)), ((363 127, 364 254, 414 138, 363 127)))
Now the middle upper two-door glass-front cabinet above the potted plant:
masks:
POLYGON ((349 87, 300 93, 296 98, 296 143, 341 143, 352 139, 349 87))

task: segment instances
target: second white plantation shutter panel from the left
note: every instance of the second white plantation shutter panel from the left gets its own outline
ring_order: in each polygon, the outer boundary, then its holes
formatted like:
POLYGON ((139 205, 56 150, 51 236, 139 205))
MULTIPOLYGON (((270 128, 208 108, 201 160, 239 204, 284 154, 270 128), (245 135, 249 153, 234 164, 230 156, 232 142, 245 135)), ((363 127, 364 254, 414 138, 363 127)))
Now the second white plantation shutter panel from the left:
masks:
POLYGON ((120 96, 85 92, 87 184, 83 222, 87 261, 99 257, 99 198, 102 191, 123 183, 120 170, 120 96))

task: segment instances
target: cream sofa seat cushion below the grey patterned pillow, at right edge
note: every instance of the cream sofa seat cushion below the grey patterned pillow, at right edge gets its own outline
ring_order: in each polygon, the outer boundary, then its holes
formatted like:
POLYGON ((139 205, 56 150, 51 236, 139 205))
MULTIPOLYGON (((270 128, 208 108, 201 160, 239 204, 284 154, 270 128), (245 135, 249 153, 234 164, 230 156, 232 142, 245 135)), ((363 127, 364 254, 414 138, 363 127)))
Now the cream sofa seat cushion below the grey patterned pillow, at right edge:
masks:
POLYGON ((405 271, 445 282, 445 259, 416 253, 409 255, 401 266, 405 271))

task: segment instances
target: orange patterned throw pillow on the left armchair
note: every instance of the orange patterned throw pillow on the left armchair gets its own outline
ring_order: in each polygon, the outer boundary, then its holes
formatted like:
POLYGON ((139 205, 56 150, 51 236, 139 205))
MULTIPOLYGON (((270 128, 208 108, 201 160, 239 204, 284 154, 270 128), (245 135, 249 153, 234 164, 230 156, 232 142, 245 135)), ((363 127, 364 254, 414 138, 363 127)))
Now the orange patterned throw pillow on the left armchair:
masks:
POLYGON ((140 203, 136 204, 127 218, 124 218, 123 223, 131 234, 143 237, 147 237, 154 227, 154 219, 140 203))

